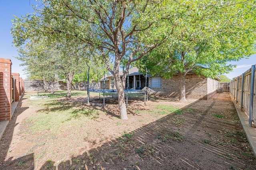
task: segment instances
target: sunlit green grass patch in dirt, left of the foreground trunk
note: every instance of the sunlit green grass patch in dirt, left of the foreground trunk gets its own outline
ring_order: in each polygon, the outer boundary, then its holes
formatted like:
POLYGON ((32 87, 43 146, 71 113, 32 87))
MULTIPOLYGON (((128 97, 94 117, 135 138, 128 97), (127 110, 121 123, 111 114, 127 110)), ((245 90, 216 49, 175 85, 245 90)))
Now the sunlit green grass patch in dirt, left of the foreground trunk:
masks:
POLYGON ((97 119, 100 111, 58 103, 46 107, 46 109, 41 109, 38 113, 40 114, 29 117, 24 121, 24 124, 29 125, 27 133, 36 134, 42 131, 50 131, 52 135, 57 135, 59 132, 68 130, 70 126, 79 127, 84 123, 84 119, 97 119))

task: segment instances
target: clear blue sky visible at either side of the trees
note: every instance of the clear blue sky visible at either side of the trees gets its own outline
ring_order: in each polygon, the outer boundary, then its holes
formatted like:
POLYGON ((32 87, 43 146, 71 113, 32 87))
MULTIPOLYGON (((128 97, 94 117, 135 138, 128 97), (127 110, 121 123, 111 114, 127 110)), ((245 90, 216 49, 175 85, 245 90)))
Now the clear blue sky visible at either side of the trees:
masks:
MULTIPOLYGON (((24 74, 24 67, 20 66, 20 61, 15 56, 18 53, 14 47, 12 47, 12 35, 10 34, 10 28, 12 27, 11 20, 13 15, 25 16, 27 13, 33 12, 33 8, 30 6, 35 3, 34 0, 0 0, 0 58, 9 58, 12 60, 12 73, 20 73, 20 77, 26 78, 24 74)), ((241 75, 248 70, 251 65, 256 64, 256 55, 252 55, 249 59, 242 59, 237 62, 231 62, 236 64, 237 67, 231 73, 226 74, 227 77, 232 79, 241 75)))

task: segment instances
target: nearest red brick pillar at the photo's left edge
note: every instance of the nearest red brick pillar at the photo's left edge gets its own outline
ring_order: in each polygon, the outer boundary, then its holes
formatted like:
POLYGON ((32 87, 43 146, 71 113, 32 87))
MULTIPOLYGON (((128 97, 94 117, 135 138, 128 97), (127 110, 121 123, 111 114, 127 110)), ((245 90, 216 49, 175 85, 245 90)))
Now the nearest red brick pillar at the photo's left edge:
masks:
POLYGON ((11 66, 10 59, 0 58, 0 121, 11 120, 11 66))

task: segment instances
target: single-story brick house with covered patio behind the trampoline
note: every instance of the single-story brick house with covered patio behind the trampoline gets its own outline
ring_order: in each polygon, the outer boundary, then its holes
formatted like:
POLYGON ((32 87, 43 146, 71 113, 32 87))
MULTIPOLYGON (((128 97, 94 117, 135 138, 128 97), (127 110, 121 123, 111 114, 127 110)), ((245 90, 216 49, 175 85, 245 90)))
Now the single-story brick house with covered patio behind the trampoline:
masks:
MULTIPOLYGON (((123 72, 120 71, 122 77, 123 72)), ((188 73, 186 75, 186 98, 188 99, 204 99, 207 100, 216 93, 218 88, 218 80, 220 77, 216 76, 215 79, 198 76, 195 73, 188 73)), ((129 70, 129 89, 142 89, 145 87, 146 77, 139 72, 138 68, 132 67, 129 70)), ((104 78, 100 79, 100 89, 103 89, 104 78)), ((161 76, 152 77, 147 76, 147 87, 150 87, 156 93, 154 95, 163 97, 180 97, 180 79, 175 75, 171 79, 164 79, 161 76)), ((112 75, 105 77, 105 89, 116 89, 115 80, 112 75)), ((126 86, 127 89, 127 80, 126 86)))

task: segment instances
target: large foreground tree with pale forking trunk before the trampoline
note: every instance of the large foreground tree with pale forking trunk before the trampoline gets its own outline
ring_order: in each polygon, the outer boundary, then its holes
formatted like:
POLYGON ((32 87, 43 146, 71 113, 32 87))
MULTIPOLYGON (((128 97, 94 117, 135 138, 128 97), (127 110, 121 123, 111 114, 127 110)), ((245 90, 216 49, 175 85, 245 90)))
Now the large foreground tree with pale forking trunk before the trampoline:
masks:
MULTIPOLYGON (((95 48, 106 68, 116 80, 120 118, 128 119, 124 85, 130 64, 154 49, 163 36, 142 42, 138 34, 156 27, 159 2, 151 0, 48 0, 32 16, 14 20, 14 43, 21 45, 31 33, 49 39, 79 40, 95 48), (71 38, 72 37, 72 38, 71 38), (126 58, 124 76, 119 75, 122 59, 126 58), (110 67, 113 62, 114 67, 110 67)), ((149 38, 149 35, 144 38, 149 38)), ((151 34, 150 36, 153 36, 151 34)))

